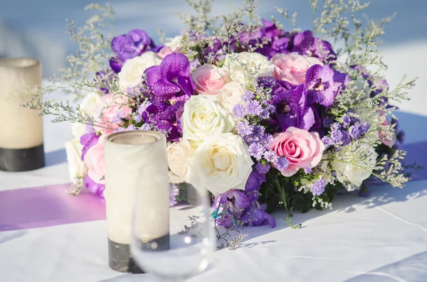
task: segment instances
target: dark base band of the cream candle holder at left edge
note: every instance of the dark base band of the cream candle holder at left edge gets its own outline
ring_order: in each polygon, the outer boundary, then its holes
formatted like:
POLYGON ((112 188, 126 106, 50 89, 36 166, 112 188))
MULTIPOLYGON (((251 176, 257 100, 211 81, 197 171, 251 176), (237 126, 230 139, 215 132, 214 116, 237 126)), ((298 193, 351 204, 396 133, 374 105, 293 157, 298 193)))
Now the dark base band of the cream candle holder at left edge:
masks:
POLYGON ((0 148, 0 170, 28 171, 44 165, 43 144, 25 149, 0 148))

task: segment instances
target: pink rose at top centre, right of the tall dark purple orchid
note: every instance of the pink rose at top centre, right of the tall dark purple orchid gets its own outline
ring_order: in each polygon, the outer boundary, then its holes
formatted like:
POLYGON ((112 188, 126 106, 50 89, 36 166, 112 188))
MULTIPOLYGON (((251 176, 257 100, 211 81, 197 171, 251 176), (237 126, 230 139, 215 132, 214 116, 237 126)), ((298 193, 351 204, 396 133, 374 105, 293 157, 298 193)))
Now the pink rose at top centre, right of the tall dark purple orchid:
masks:
POLYGON ((191 75, 198 94, 216 95, 226 85, 226 72, 214 65, 197 67, 191 75))

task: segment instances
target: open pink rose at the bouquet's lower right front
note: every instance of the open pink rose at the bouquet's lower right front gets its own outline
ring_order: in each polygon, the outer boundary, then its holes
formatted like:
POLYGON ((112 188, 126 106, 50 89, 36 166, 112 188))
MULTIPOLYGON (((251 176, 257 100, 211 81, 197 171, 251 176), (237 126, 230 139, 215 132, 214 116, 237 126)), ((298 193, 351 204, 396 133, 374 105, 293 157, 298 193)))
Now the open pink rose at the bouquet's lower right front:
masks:
POLYGON ((325 144, 317 132, 308 132, 304 129, 289 127, 286 132, 275 136, 268 145, 278 156, 285 156, 289 166, 281 173, 292 176, 300 168, 314 168, 322 160, 325 144))

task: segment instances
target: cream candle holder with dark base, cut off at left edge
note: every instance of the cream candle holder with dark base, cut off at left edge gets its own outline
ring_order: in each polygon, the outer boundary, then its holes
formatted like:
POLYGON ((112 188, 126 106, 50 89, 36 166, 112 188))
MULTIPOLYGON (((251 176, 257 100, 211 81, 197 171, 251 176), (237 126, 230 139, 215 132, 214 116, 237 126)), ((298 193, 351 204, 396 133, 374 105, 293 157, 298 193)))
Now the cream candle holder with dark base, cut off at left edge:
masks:
POLYGON ((41 85, 41 63, 31 58, 0 59, 0 170, 26 171, 44 166, 43 119, 20 106, 41 85))

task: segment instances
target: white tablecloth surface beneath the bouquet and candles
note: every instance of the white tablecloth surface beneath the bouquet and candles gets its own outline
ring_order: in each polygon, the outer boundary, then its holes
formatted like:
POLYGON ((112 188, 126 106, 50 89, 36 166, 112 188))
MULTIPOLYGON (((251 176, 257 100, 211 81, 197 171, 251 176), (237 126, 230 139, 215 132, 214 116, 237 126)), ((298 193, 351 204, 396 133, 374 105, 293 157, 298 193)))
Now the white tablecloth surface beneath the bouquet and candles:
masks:
MULTIPOLYGON (((398 116, 408 158, 423 161, 427 116, 418 102, 405 106, 418 114, 398 116)), ((70 126, 48 121, 46 168, 0 171, 0 191, 69 182, 63 144, 70 126)), ((216 251, 209 269, 189 281, 427 281, 426 175, 417 173, 404 189, 371 187, 367 198, 337 195, 332 210, 295 213, 302 229, 290 229, 284 214, 275 214, 275 229, 251 227, 239 249, 216 251)), ((154 280, 109 269, 106 234, 105 220, 0 232, 0 281, 154 280)))

